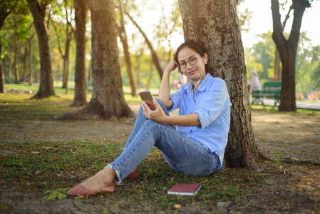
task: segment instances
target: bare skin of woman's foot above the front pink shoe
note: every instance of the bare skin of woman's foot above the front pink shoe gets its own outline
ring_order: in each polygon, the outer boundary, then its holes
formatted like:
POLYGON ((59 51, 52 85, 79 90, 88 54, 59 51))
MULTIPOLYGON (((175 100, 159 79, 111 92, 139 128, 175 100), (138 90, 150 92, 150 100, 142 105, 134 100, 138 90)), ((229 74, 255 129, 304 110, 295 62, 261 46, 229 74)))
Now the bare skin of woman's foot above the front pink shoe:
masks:
POLYGON ((115 170, 113 170, 113 168, 106 167, 96 173, 96 175, 93 175, 92 177, 83 181, 83 183, 81 184, 88 190, 96 190, 103 187, 104 185, 113 183, 113 179, 115 178, 115 176, 115 170))

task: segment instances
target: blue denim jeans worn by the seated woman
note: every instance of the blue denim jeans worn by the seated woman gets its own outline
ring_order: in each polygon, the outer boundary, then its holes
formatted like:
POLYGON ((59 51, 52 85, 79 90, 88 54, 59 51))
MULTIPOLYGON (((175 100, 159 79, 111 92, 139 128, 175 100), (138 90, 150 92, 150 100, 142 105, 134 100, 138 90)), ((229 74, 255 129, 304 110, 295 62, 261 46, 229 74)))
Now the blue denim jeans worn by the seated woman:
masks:
MULTIPOLYGON (((169 116, 167 108, 159 99, 157 101, 169 116)), ((209 175, 219 163, 217 154, 210 153, 205 146, 177 131, 175 126, 149 120, 140 107, 125 150, 108 165, 117 174, 115 181, 120 183, 143 161, 153 146, 162 152, 171 168, 186 175, 209 175)))

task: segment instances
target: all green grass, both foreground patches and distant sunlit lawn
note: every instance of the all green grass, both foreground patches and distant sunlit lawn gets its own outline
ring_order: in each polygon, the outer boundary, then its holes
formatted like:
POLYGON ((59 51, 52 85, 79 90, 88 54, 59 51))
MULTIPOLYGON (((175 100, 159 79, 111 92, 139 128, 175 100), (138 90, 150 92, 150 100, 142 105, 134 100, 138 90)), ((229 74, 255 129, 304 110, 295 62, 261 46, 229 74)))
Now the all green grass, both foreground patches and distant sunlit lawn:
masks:
MULTIPOLYGON (((6 88, 37 91, 36 86, 9 84, 6 88)), ((43 100, 30 100, 32 95, 23 92, 0 94, 0 121, 50 121, 53 115, 76 110, 70 107, 72 90, 65 94, 64 89, 57 88, 56 93, 57 97, 43 100)), ((135 102, 135 98, 129 95, 125 99, 128 103, 135 102)), ((252 108, 259 109, 260 106, 252 108)), ((271 107, 267 107, 266 111, 272 111, 271 107)), ((1 129, 0 133, 3 133, 1 129)), ((123 148, 121 143, 112 139, 6 143, 0 138, 0 142, 0 151, 5 153, 0 156, 0 178, 4 180, 4 185, 40 192, 47 200, 66 198, 66 188, 96 173, 119 156, 120 148, 123 148)), ((205 177, 175 173, 156 149, 139 168, 141 177, 138 180, 116 185, 115 193, 97 197, 113 203, 123 198, 119 206, 134 205, 136 210, 152 204, 153 210, 167 212, 175 210, 175 204, 197 207, 216 205, 219 201, 239 203, 242 195, 259 194, 259 187, 265 183, 264 173, 244 168, 226 168, 205 177), (175 183, 202 183, 203 186, 195 196, 168 195, 167 190, 175 183)))

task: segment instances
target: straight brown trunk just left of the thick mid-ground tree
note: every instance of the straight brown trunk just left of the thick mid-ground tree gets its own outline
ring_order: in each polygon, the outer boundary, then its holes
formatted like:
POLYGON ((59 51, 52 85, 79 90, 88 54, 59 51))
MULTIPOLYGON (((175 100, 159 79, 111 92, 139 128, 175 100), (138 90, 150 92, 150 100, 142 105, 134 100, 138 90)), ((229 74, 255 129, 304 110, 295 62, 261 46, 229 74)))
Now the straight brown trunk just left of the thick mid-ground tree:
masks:
POLYGON ((75 0, 76 20, 76 73, 74 99, 71 106, 84 106, 87 103, 86 85, 86 17, 88 6, 86 1, 75 0))

